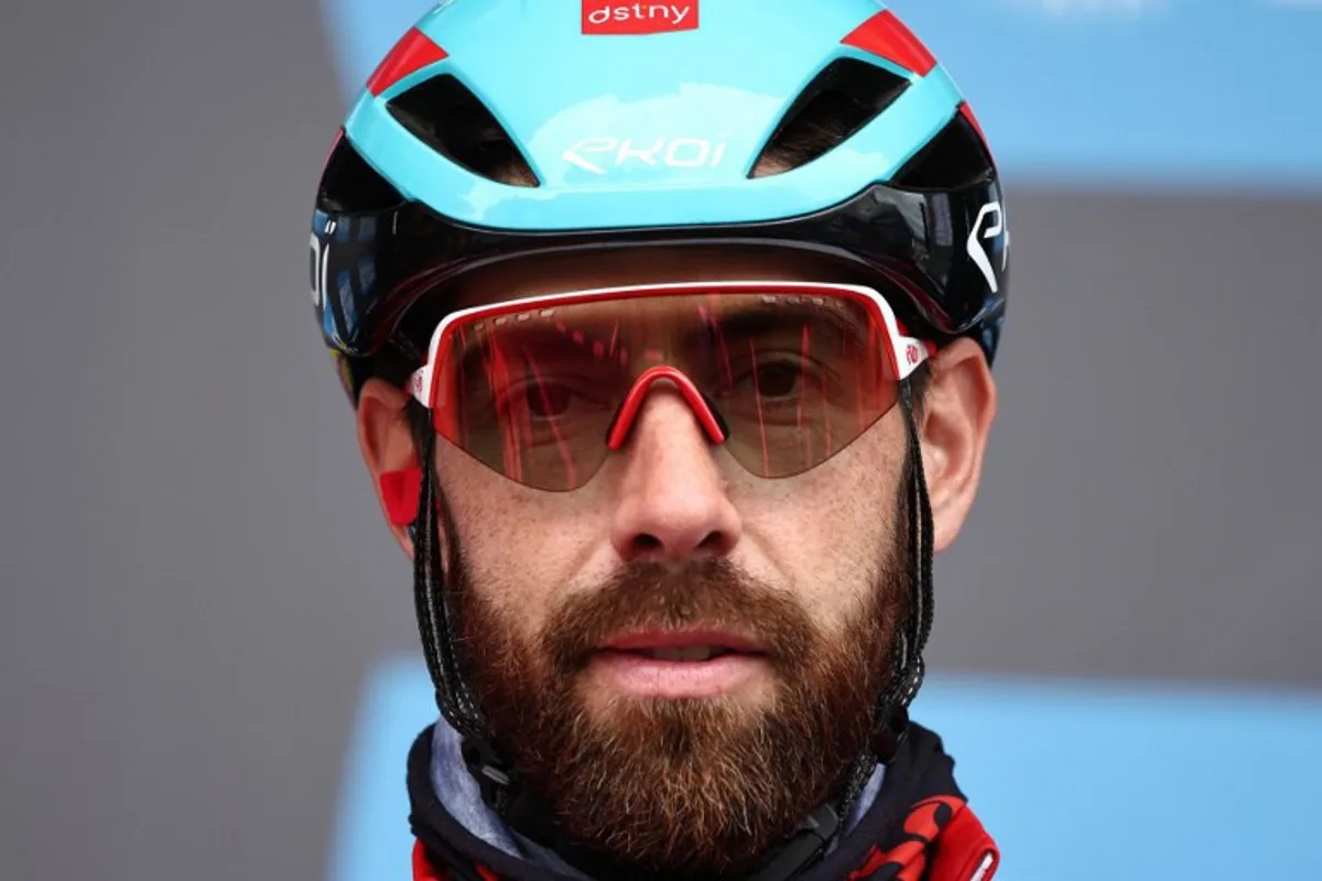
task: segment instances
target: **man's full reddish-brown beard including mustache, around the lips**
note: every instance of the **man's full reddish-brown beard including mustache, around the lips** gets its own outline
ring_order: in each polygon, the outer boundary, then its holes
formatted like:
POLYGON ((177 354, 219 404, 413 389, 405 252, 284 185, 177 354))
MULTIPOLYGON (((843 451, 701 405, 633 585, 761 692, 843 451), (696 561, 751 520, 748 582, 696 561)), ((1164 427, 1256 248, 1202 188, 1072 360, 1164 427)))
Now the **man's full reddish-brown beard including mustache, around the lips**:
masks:
POLYGON ((746 872, 846 782, 867 746, 907 606, 903 531, 865 601, 830 631, 792 593, 706 557, 628 563, 527 639, 473 589, 446 526, 464 675, 494 742, 584 861, 604 860, 621 877, 746 872), (769 700, 588 701, 588 666, 612 635, 695 625, 758 641, 769 700))

